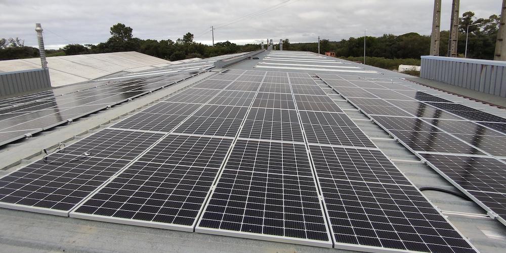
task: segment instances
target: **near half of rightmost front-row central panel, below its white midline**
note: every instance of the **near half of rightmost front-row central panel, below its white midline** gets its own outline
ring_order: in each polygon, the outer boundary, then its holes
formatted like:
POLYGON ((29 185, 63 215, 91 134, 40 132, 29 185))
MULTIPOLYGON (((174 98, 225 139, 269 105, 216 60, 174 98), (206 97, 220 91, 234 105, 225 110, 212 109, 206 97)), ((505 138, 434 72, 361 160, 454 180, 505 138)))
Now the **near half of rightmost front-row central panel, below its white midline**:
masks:
POLYGON ((329 178, 319 184, 335 247, 475 252, 414 186, 329 178))

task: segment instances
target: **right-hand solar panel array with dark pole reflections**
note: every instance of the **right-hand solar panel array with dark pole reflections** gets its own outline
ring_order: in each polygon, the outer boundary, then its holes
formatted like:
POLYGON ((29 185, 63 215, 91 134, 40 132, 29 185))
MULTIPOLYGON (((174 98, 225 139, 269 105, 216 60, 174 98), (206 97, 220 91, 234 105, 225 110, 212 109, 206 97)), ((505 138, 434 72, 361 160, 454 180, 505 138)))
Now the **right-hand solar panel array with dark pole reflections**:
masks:
POLYGON ((506 225, 506 118, 399 83, 322 80, 506 225))

